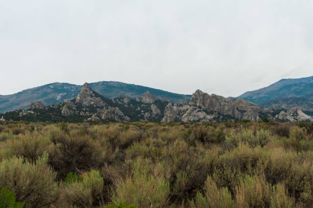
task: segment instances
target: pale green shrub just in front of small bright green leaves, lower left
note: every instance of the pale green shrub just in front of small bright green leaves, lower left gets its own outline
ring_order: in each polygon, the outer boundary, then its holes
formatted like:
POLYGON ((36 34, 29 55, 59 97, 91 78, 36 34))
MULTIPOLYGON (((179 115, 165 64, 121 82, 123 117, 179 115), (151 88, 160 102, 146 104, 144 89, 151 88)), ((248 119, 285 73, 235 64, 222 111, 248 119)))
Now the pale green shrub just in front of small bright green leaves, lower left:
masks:
POLYGON ((103 179, 99 171, 87 173, 81 182, 64 186, 64 198, 69 205, 77 207, 99 206, 103 190, 103 179))

